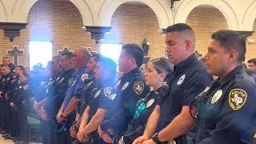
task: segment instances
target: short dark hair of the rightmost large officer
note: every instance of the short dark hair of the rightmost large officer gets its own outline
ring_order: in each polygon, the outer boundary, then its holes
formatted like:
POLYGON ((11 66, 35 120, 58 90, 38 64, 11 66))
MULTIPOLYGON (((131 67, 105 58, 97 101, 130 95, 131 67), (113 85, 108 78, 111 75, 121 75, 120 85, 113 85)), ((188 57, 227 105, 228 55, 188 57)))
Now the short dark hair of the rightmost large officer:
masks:
POLYGON ((218 30, 211 36, 218 40, 227 51, 236 50, 238 52, 238 62, 243 62, 246 58, 246 40, 241 34, 234 30, 218 30))

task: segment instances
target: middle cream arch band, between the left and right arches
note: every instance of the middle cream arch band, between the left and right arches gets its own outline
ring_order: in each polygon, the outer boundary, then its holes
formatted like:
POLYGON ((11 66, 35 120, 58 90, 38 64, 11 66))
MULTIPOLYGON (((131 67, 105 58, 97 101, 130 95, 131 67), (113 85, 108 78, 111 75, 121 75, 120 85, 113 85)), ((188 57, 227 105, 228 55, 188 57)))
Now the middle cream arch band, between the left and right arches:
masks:
MULTIPOLYGON (((114 11, 125 2, 130 2, 130 0, 106 0, 98 14, 98 24, 110 26, 114 11)), ((142 2, 154 11, 158 18, 159 28, 170 26, 170 18, 161 2, 158 0, 134 0, 134 2, 142 2)))

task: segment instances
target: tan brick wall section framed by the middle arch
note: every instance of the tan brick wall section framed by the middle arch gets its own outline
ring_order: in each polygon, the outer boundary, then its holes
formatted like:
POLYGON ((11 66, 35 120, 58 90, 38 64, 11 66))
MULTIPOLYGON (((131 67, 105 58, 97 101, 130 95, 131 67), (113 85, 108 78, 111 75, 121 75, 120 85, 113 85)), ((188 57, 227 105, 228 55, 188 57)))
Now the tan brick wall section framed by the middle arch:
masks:
POLYGON ((144 4, 122 4, 115 11, 110 34, 106 40, 122 43, 134 42, 142 45, 144 38, 150 42, 149 56, 164 57, 165 36, 158 32, 158 18, 150 7, 144 4))

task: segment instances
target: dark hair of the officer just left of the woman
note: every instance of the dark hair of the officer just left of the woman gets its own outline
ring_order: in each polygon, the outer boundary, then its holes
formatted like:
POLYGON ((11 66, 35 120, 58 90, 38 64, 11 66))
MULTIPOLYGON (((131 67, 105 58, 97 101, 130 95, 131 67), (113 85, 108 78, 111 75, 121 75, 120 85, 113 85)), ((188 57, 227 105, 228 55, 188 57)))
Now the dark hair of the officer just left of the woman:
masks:
POLYGON ((134 43, 127 43, 126 45, 122 46, 122 50, 126 50, 126 54, 135 58, 138 67, 142 66, 144 50, 141 46, 134 43))

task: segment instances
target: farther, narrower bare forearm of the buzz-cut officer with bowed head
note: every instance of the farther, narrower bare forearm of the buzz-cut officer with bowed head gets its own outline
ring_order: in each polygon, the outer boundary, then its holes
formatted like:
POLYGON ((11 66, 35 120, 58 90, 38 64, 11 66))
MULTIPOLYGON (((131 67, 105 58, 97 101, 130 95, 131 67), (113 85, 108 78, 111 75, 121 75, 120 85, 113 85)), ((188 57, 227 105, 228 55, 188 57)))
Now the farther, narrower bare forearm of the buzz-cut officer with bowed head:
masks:
POLYGON ((150 138, 155 129, 158 126, 158 118, 160 116, 160 106, 155 106, 154 111, 150 114, 149 120, 146 122, 146 129, 144 130, 144 134, 147 138, 150 138))

